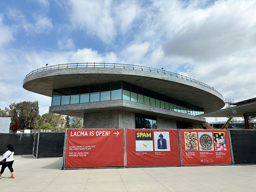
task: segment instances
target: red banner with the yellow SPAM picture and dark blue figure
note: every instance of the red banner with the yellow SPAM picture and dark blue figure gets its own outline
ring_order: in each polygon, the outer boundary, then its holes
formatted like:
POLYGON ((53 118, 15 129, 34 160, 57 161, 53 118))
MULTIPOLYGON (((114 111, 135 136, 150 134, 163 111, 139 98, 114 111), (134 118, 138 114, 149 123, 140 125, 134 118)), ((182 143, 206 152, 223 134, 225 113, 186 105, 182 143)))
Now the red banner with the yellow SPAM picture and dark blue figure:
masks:
POLYGON ((126 129, 126 166, 180 165, 177 129, 126 129))

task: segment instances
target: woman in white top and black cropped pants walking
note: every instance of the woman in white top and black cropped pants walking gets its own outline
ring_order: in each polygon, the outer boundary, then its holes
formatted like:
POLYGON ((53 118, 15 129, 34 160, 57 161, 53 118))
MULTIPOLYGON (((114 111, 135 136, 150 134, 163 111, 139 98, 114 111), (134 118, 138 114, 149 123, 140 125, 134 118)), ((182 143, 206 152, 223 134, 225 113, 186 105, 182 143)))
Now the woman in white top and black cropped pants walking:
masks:
POLYGON ((10 172, 11 172, 11 176, 8 177, 8 178, 15 178, 14 175, 13 175, 13 162, 14 162, 13 155, 14 155, 14 149, 13 149, 13 146, 11 144, 7 145, 6 148, 7 148, 7 151, 4 153, 3 157, 0 159, 0 161, 2 161, 5 158, 7 158, 6 159, 6 164, 2 165, 2 169, 0 171, 0 179, 2 179, 1 175, 4 173, 4 169, 6 167, 8 167, 10 172))

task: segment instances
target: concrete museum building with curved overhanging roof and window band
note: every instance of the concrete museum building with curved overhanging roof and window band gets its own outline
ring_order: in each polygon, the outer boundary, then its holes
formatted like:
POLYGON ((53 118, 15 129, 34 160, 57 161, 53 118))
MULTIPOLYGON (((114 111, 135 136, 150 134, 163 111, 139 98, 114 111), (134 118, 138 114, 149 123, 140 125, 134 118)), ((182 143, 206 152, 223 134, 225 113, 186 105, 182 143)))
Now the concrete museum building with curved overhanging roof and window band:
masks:
POLYGON ((197 128, 224 106, 213 87, 163 68, 72 63, 30 72, 23 87, 52 97, 49 112, 83 118, 83 128, 197 128))

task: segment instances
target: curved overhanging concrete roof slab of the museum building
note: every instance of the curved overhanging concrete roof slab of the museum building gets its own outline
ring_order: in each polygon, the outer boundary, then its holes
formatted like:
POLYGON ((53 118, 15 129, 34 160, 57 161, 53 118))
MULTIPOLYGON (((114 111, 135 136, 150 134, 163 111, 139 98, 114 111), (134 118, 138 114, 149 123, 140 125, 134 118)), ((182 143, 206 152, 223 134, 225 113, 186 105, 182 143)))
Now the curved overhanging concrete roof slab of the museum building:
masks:
POLYGON ((224 106, 221 94, 210 88, 167 74, 127 68, 59 68, 27 76, 23 88, 52 96, 53 89, 126 81, 145 89, 204 108, 205 113, 224 106))

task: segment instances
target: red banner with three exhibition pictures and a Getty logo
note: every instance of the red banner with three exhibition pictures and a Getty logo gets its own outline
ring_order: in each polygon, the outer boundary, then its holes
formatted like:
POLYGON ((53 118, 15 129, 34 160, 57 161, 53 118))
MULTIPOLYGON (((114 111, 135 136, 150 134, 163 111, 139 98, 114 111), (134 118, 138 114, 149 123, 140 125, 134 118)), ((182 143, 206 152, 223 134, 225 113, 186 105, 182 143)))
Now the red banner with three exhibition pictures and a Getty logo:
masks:
POLYGON ((232 164, 228 130, 180 130, 182 164, 232 164))

